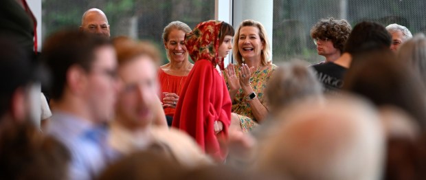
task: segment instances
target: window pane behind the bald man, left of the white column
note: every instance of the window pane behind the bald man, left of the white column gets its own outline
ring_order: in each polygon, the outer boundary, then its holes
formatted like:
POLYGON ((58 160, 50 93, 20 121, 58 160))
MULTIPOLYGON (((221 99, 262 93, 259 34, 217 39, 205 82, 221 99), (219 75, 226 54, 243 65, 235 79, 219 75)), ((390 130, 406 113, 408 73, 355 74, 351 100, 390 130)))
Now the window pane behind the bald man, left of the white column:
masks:
POLYGON ((99 8, 108 17, 111 36, 150 40, 160 49, 164 49, 161 34, 171 21, 182 21, 193 28, 214 19, 211 0, 44 0, 42 8, 42 38, 64 27, 79 27, 86 10, 99 8))

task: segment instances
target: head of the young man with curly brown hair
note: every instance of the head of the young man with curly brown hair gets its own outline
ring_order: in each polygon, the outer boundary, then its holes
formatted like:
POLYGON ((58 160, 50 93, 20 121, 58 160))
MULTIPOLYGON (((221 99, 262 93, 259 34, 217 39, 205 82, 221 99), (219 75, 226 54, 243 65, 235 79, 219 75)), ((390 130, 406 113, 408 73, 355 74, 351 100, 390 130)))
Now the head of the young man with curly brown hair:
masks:
POLYGON ((350 24, 348 21, 333 18, 321 19, 311 28, 311 37, 319 55, 326 58, 326 62, 333 62, 340 57, 343 47, 349 37, 350 24))

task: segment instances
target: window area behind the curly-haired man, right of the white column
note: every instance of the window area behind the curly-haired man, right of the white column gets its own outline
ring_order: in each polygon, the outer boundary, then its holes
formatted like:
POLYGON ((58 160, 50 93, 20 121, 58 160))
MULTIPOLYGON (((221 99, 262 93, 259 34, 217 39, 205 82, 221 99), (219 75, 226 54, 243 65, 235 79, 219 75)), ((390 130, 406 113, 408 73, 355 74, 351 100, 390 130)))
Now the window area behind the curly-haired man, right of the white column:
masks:
POLYGON ((309 35, 322 18, 346 19, 352 27, 360 21, 398 23, 416 34, 426 30, 425 8, 424 0, 273 0, 273 61, 324 60, 309 35))

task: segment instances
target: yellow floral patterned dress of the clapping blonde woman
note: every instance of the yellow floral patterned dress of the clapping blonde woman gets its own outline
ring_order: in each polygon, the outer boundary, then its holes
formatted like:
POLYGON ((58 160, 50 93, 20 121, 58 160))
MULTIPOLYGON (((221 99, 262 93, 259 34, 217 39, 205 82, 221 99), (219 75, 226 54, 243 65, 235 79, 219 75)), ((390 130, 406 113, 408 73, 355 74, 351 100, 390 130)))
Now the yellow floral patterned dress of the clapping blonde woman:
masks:
MULTIPOLYGON (((236 66, 236 71, 239 71, 237 69, 240 69, 240 65, 236 66)), ((262 71, 257 70, 251 74, 250 77, 251 88, 256 93, 260 103, 265 107, 267 107, 267 100, 263 92, 265 91, 267 82, 276 67, 277 66, 273 64, 267 65, 266 69, 263 69, 262 71)), ((236 72, 236 74, 238 73, 239 72, 236 72)), ((223 77, 225 77, 227 82, 226 76, 223 77)), ((232 100, 232 113, 236 113, 238 115, 243 131, 249 132, 258 125, 258 122, 251 112, 250 104, 245 96, 246 95, 243 93, 243 89, 238 90, 238 93, 236 93, 235 98, 232 100)))

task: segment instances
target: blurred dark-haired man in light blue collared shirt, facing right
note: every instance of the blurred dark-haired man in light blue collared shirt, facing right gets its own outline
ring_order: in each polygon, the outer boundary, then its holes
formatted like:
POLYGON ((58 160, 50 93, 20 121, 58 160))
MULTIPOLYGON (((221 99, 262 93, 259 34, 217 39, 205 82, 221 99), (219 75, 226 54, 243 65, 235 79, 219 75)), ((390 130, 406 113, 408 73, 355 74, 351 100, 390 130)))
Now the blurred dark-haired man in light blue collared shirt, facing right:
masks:
POLYGON ((69 148, 69 179, 94 179, 109 163, 106 120, 117 95, 115 50, 105 38, 67 30, 49 37, 43 60, 52 73, 47 133, 69 148))

